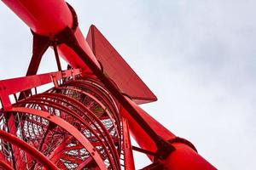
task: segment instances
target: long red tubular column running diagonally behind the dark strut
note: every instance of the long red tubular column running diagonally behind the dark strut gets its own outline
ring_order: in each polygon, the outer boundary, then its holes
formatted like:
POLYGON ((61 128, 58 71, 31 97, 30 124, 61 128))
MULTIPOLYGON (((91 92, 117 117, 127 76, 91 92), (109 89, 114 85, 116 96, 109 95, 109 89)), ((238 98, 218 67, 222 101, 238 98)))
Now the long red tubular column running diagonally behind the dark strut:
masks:
MULTIPOLYGON (((23 20, 26 25, 38 35, 51 37, 54 39, 55 35, 59 34, 66 27, 73 27, 73 14, 63 0, 3 0, 3 3, 6 3, 7 6, 9 6, 9 8, 11 8, 15 14, 17 14, 20 19, 23 20)), ((102 77, 102 80, 108 83, 108 79, 100 74, 99 71, 97 72, 96 66, 100 68, 100 65, 98 64, 87 42, 85 42, 79 28, 74 31, 74 34, 76 40, 79 42, 79 46, 83 48, 84 52, 96 64, 92 66, 90 65, 90 68, 93 68, 96 71, 97 76, 102 77)), ((80 59, 71 48, 61 44, 58 46, 58 50, 62 54, 62 57, 66 59, 67 62, 73 66, 73 68, 81 68, 84 72, 91 73, 88 66, 84 64, 85 61, 80 59)), ((93 64, 93 62, 91 62, 91 64, 93 64)), ((116 90, 112 85, 109 85, 109 87, 113 92, 116 90)), ((119 93, 117 93, 116 96, 119 97, 119 93)), ((175 140, 177 137, 174 134, 168 131, 159 122, 156 122, 154 118, 149 116, 133 101, 129 101, 140 116, 143 117, 146 122, 148 122, 149 126, 152 127, 154 132, 159 134, 162 139, 171 141, 170 143, 172 143, 172 145, 176 148, 176 150, 167 156, 166 159, 160 160, 160 163, 162 163, 166 169, 216 169, 201 156, 199 156, 195 150, 191 149, 189 142, 186 142, 185 140, 185 142, 175 140)), ((129 121, 129 124, 131 125, 131 134, 137 140, 137 143, 140 144, 143 149, 155 152, 157 150, 155 141, 148 136, 147 132, 144 131, 143 127, 141 127, 139 124, 140 122, 134 120, 130 114, 127 112, 125 113, 125 111, 123 111, 123 115, 129 121)), ((149 156, 149 158, 151 160, 154 159, 152 156, 149 156)))

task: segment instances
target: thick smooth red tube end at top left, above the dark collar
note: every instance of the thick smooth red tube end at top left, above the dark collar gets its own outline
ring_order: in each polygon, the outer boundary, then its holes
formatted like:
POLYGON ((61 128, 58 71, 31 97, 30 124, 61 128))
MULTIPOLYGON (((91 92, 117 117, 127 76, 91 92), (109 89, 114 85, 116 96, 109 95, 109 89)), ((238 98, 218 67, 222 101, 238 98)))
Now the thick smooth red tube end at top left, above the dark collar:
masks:
POLYGON ((52 37, 66 26, 72 27, 73 16, 62 0, 3 0, 32 31, 52 37))

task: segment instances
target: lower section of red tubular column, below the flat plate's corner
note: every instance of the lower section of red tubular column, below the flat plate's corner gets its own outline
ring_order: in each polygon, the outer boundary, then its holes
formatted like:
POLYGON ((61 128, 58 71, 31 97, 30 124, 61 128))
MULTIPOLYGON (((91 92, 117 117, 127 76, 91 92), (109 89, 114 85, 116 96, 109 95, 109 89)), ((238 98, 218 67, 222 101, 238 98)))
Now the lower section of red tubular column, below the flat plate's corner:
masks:
MULTIPOLYGON (((128 99, 128 98, 126 98, 128 99)), ((165 169, 172 170, 214 170, 208 161, 201 157, 196 151, 193 144, 185 139, 177 138, 173 133, 171 133, 166 127, 163 127, 159 122, 154 120, 152 116, 149 116, 146 111, 143 111, 137 104, 135 104, 131 99, 128 99, 133 105, 133 107, 139 112, 139 114, 144 118, 146 122, 154 129, 156 133, 160 135, 161 138, 170 141, 176 150, 174 150, 169 156, 164 160, 159 160, 165 169)), ((143 131, 143 128, 125 111, 122 110, 123 116, 128 120, 131 130, 131 135, 136 139, 137 143, 144 149, 155 152, 156 146, 152 139, 149 138, 148 134, 143 131)), ((153 156, 148 156, 151 161, 153 161, 153 156)))

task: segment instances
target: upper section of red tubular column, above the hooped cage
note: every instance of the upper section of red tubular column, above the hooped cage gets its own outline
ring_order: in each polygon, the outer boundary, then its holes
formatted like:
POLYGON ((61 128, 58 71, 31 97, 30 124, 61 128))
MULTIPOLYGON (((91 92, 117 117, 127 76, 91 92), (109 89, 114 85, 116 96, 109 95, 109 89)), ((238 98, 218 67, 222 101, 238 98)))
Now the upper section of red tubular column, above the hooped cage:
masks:
MULTIPOLYGON (((63 0, 3 0, 21 20, 23 20, 32 31, 40 36, 55 38, 55 35, 63 31, 67 26, 73 27, 73 14, 67 3, 63 0)), ((88 43, 85 41, 79 27, 74 32, 80 47, 90 56, 96 65, 100 68, 96 57, 91 51, 88 43)), ((73 68, 81 68, 84 72, 90 72, 88 66, 79 59, 79 56, 66 45, 59 45, 58 50, 61 57, 65 59, 73 68)))

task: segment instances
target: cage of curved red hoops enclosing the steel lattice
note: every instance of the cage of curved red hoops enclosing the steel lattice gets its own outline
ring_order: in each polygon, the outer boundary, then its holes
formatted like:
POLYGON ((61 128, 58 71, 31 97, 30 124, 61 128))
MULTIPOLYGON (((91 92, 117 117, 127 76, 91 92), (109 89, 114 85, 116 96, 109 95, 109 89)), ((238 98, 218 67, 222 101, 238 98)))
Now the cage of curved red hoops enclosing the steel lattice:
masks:
MULTIPOLYGON (((118 102, 93 78, 65 80, 42 94, 21 99, 0 117, 1 130, 61 169, 120 169, 120 122, 118 102)), ((0 155, 9 166, 44 167, 19 146, 4 140, 0 144, 0 155)))

